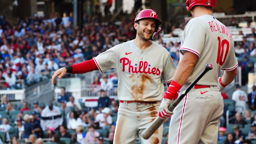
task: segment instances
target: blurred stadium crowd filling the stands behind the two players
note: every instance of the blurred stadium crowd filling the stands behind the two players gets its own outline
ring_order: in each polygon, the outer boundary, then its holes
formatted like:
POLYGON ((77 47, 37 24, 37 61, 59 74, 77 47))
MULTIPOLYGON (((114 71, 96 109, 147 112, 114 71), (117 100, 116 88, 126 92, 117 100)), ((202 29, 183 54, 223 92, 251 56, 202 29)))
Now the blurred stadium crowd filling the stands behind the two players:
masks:
MULTIPOLYGON (((129 16, 114 23, 101 23, 99 17, 83 15, 83 26, 73 28, 72 14, 51 14, 49 18, 34 15, 25 19, 17 18, 13 26, 0 17, 0 89, 22 89, 51 77, 51 72, 67 65, 91 59, 108 50, 114 45, 126 42, 135 37, 133 20, 129 16)), ((245 19, 245 22, 247 20, 245 19)), ((249 23, 249 22, 248 22, 249 23)), ((178 37, 172 32, 175 28, 184 29, 183 21, 177 27, 170 28, 171 37, 178 37)), ((232 18, 230 26, 238 27, 236 19, 232 18)), ((250 25, 248 25, 250 27, 250 25)), ((256 56, 255 44, 246 38, 256 37, 255 29, 252 34, 243 35, 243 40, 235 45, 235 53, 239 66, 242 68, 243 84, 247 83, 248 73, 254 69, 256 56), (242 59, 241 59, 242 58, 242 59)), ((179 63, 179 42, 163 42, 159 36, 158 44, 165 47, 172 56, 175 65, 179 63)), ((67 95, 65 88, 56 103, 33 105, 23 102, 21 105, 12 104, 6 96, 1 99, 0 138, 2 143, 43 143, 43 139, 61 143, 70 138, 71 143, 108 143, 113 142, 115 120, 118 112, 118 101, 109 98, 109 92, 117 84, 117 74, 97 75, 91 84, 92 92, 99 95, 98 107, 85 108, 83 103, 76 102, 74 97, 67 95), (18 130, 15 134, 14 130, 18 130), (6 135, 1 136, 4 132, 6 135), (104 141, 106 142, 106 141, 104 141)), ((116 90, 113 90, 116 93, 116 90)), ((247 95, 240 88, 232 96, 235 104, 225 105, 224 115, 219 129, 219 141, 225 143, 242 143, 245 137, 256 139, 256 87, 247 95), (237 96, 236 92, 243 93, 237 96), (226 125, 228 106, 236 106, 231 116, 234 119, 226 125), (238 109, 237 109, 238 108, 238 109), (240 108, 240 109, 239 109, 240 108), (249 131, 248 131, 249 128, 249 131), (229 133, 230 132, 230 133, 229 133)), ((222 91, 224 99, 229 96, 222 91)), ((164 126, 168 127, 167 119, 164 126)), ((164 132, 168 138, 168 131, 164 132)), ((165 142, 166 140, 164 140, 165 142)), ((1 143, 1 142, 0 142, 1 143)), ((249 143, 249 142, 248 142, 249 143)))

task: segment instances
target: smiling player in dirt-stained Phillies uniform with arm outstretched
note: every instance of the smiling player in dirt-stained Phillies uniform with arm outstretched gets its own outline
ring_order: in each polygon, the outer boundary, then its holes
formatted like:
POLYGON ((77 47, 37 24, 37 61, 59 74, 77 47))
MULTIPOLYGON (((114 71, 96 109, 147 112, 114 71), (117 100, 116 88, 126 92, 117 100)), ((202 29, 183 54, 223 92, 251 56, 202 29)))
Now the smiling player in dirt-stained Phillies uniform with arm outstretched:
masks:
POLYGON ((114 144, 131 144, 139 136, 142 143, 162 143, 163 126, 145 140, 141 133, 158 116, 163 99, 163 81, 169 84, 176 67, 166 48, 152 42, 161 31, 157 13, 140 11, 134 19, 134 40, 116 45, 97 57, 55 71, 52 83, 59 75, 86 73, 99 69, 101 73, 115 68, 118 73, 120 106, 114 134, 114 144), (163 79, 163 81, 161 80, 163 79))

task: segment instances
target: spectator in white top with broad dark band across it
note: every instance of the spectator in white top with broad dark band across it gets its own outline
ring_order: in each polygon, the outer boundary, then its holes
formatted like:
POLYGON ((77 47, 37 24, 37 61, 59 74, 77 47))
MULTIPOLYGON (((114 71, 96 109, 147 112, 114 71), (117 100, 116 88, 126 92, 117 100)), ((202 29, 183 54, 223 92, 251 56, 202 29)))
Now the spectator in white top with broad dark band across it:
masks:
POLYGON ((40 125, 43 131, 48 127, 54 127, 54 129, 61 126, 63 123, 63 118, 61 118, 60 108, 52 105, 52 102, 49 102, 49 105, 44 108, 41 114, 40 125))

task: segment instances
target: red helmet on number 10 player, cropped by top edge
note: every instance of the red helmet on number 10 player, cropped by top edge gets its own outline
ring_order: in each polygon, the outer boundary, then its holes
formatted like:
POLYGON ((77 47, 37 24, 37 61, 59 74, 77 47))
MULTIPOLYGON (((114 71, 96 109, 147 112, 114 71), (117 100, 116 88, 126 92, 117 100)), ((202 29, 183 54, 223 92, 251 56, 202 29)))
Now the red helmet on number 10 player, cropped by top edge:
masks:
POLYGON ((217 0, 186 0, 186 8, 188 11, 195 5, 205 5, 216 7, 217 0))

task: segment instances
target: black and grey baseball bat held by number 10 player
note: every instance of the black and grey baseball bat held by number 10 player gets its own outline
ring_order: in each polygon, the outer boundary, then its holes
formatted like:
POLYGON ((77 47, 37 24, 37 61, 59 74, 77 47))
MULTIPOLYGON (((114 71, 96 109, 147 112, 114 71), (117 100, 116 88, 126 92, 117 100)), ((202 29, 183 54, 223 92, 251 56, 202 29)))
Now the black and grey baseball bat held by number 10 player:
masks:
MULTIPOLYGON (((176 100, 173 101, 172 104, 169 105, 169 111, 173 111, 173 109, 179 104, 179 102, 187 95, 189 90, 193 88, 196 83, 213 67, 211 64, 207 64, 205 70, 191 83, 186 90, 183 91, 182 95, 180 95, 176 100)), ((144 139, 149 139, 153 133, 163 124, 165 119, 157 117, 151 124, 148 126, 142 133, 142 137, 144 139)))

